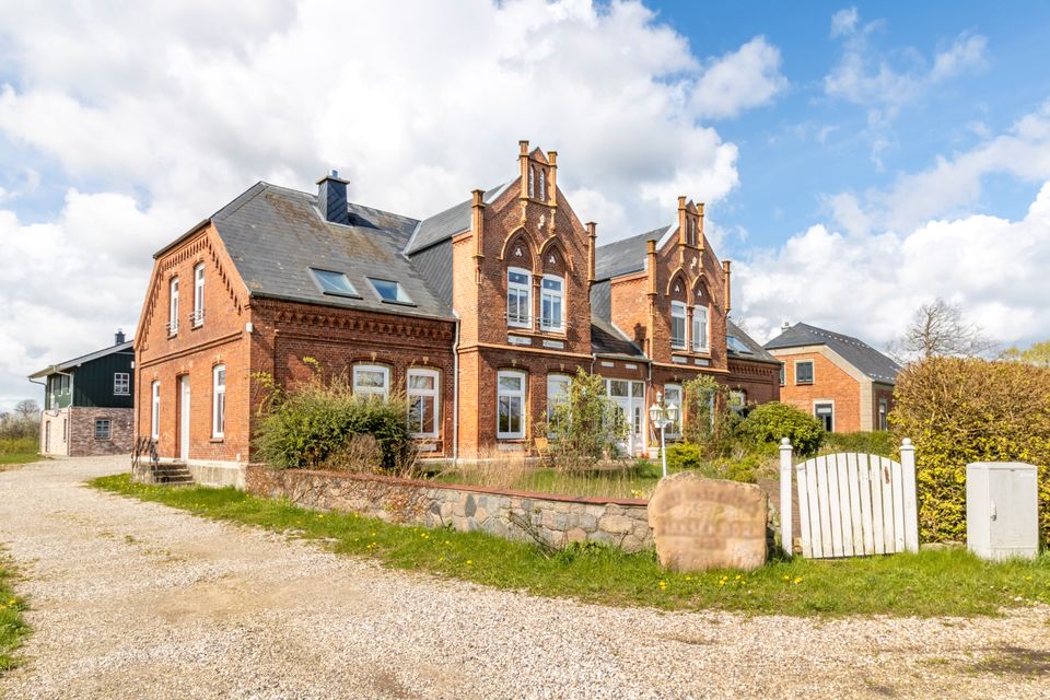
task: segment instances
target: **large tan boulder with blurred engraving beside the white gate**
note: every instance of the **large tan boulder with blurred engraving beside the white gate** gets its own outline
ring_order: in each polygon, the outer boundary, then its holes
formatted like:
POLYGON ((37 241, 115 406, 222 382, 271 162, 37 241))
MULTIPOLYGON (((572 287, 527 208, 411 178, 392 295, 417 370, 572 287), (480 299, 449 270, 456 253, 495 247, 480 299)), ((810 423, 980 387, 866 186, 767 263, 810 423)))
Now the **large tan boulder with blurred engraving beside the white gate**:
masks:
POLYGON ((766 562, 766 493, 754 483, 681 471, 649 500, 660 563, 674 571, 758 569, 766 562))

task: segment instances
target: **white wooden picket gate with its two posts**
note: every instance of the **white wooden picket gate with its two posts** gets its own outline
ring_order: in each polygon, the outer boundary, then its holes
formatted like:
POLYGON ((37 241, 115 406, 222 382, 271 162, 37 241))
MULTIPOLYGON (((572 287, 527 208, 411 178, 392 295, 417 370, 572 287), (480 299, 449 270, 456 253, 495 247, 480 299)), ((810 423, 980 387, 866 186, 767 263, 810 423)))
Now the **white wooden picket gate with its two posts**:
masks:
POLYGON ((919 550, 915 448, 909 439, 900 445, 899 463, 878 455, 839 453, 792 467, 792 447, 784 438, 780 445, 780 532, 789 551, 794 541, 793 480, 798 491, 803 557, 919 550))

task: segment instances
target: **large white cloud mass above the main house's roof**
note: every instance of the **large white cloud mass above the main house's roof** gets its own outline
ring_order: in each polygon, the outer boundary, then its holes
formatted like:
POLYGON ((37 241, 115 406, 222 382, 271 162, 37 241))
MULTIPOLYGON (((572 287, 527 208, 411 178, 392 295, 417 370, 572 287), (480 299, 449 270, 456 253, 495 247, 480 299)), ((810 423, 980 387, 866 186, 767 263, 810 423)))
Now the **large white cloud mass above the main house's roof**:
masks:
POLYGON ((12 197, 0 210, 21 268, 0 280, 0 404, 133 323, 149 253, 256 179, 311 189, 337 167, 357 201, 422 217, 513 176, 527 138, 561 149, 560 183, 608 241, 669 220, 678 195, 736 187, 736 145, 698 120, 784 85, 766 39, 698 56, 638 2, 0 0, 0 136, 69 190, 52 221, 12 197))

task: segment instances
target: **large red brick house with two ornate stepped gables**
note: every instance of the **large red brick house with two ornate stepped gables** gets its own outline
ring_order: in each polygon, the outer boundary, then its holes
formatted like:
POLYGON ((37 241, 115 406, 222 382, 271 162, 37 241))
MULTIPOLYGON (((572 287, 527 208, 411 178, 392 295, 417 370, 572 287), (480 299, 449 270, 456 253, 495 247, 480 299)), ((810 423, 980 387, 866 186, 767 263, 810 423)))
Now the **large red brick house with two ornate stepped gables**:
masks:
POLYGON ((348 203, 335 173, 316 195, 258 183, 172 242, 136 338, 138 433, 164 458, 243 464, 253 374, 294 383, 304 358, 357 392, 406 393, 422 448, 444 458, 530 450, 578 368, 607 378, 635 453, 656 393, 674 400, 697 374, 778 397, 777 361, 727 320, 730 266, 702 205, 680 198, 673 224, 598 247, 557 153, 523 141, 517 160, 509 182, 422 220, 348 203))

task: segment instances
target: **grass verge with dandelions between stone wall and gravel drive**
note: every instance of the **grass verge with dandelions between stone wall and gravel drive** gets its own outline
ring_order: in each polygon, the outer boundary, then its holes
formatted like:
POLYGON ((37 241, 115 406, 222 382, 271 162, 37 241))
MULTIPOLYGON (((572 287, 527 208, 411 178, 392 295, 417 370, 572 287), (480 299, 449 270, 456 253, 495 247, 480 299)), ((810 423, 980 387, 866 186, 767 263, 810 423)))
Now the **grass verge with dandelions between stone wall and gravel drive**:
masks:
POLYGON ((545 557, 536 547, 483 533, 389 525, 355 514, 318 513, 232 488, 173 489, 132 483, 129 475, 91 486, 197 515, 324 538, 335 551, 394 569, 427 571, 498 588, 569 596, 606 605, 676 610, 842 616, 995 615, 1003 607, 1050 604, 1050 556, 1000 564, 965 551, 924 551, 840 561, 795 558, 759 571, 677 574, 653 552, 570 547, 545 557))

